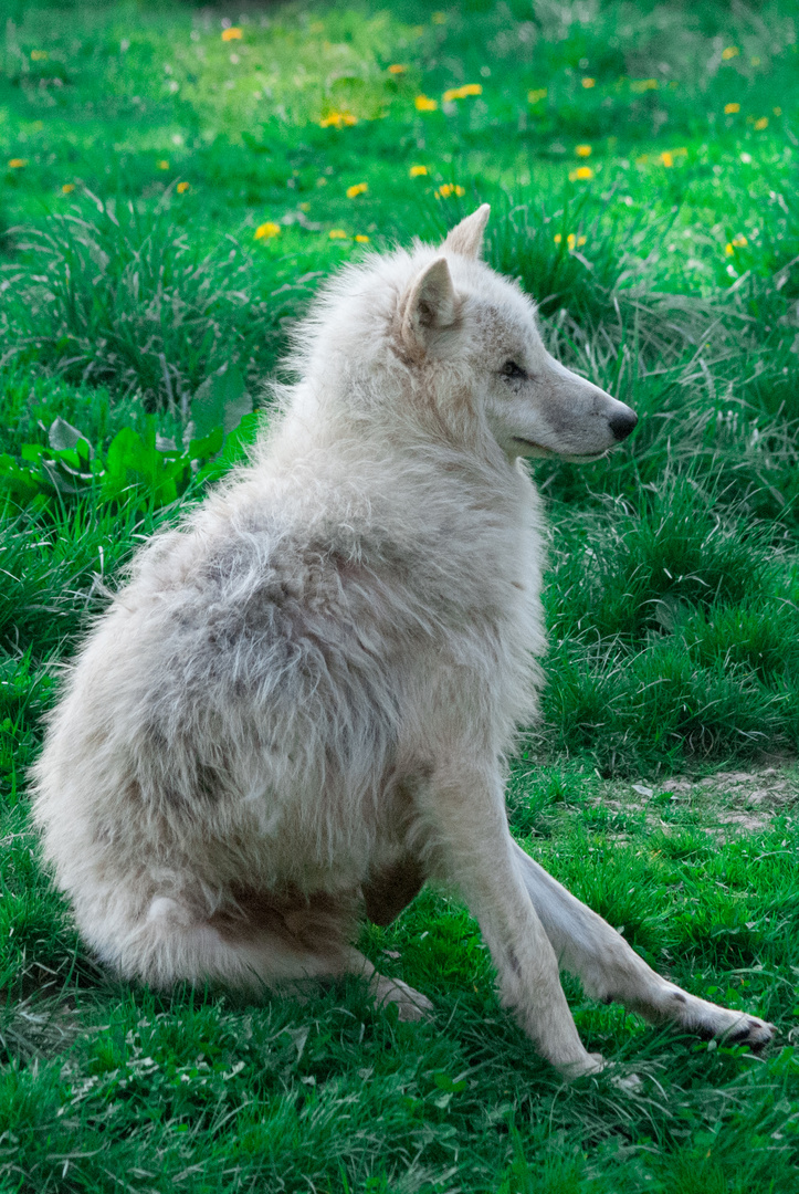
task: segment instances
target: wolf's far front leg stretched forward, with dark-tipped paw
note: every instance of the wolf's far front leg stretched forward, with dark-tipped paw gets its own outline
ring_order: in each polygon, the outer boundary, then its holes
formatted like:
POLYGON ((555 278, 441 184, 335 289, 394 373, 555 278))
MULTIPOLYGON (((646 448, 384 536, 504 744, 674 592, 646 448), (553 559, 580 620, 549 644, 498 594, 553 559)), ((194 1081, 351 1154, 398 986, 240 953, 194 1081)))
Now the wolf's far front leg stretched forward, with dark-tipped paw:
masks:
POLYGON ((520 845, 516 866, 563 970, 582 979, 588 995, 617 1001, 651 1023, 674 1021, 700 1036, 726 1036, 761 1048, 774 1026, 757 1016, 719 1008, 657 974, 610 925, 570 894, 520 845))

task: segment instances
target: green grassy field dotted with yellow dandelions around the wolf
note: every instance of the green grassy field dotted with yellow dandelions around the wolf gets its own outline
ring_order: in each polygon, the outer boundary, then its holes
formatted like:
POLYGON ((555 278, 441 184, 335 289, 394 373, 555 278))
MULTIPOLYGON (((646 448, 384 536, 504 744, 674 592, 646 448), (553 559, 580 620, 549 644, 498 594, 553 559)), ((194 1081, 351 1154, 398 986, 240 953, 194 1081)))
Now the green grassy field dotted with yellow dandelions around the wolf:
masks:
POLYGON ((799 1189, 795 6, 4 14, 0 1189, 799 1189), (434 892, 362 942, 430 1023, 355 983, 115 984, 27 821, 59 661, 269 419, 320 278, 486 199, 552 351, 640 416, 609 460, 535 466, 549 679, 511 826, 654 966, 780 1029, 754 1057, 566 980, 633 1091, 541 1063, 434 892))

